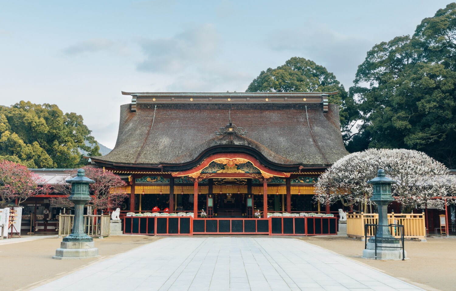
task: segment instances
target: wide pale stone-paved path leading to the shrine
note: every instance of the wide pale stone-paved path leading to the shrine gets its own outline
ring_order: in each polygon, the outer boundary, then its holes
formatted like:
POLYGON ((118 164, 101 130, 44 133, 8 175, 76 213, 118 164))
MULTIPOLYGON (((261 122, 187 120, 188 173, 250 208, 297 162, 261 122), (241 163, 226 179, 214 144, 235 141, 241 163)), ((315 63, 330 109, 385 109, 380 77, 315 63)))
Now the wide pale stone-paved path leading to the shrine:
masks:
POLYGON ((63 289, 422 290, 299 239, 244 236, 167 237, 35 290, 63 289))

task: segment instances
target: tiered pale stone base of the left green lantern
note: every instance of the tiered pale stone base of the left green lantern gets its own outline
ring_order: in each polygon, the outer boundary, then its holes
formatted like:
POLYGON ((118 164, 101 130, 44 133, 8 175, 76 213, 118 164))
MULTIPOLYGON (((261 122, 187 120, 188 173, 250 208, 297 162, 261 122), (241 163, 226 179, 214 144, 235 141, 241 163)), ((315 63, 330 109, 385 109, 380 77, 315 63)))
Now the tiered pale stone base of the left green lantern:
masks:
POLYGON ((95 248, 95 242, 92 241, 62 241, 60 248, 56 249, 56 255, 52 259, 56 260, 79 260, 87 258, 96 258, 98 248, 95 248))

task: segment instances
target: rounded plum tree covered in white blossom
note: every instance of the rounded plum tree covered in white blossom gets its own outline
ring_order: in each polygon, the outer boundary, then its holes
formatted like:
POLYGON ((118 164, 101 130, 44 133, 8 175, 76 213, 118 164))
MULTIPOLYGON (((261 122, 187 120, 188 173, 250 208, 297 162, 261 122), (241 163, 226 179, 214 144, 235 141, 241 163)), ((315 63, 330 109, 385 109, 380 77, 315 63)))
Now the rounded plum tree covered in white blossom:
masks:
POLYGON ((376 176, 378 169, 398 181, 392 193, 404 207, 438 204, 435 197, 453 195, 455 190, 446 166, 423 152, 368 149, 344 156, 326 170, 315 185, 316 199, 330 204, 341 201, 346 207, 370 203, 372 185, 366 182, 376 176))

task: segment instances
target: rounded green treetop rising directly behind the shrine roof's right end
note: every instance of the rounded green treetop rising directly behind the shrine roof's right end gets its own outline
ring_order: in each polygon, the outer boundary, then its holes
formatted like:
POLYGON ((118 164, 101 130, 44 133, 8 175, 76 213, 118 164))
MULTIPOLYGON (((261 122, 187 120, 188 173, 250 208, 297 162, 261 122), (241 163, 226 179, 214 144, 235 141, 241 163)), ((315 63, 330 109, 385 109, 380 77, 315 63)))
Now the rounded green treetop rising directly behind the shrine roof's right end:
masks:
POLYGON ((350 138, 350 126, 358 116, 352 97, 333 73, 303 57, 292 57, 284 65, 261 71, 246 92, 333 92, 329 103, 341 105, 340 121, 345 138, 350 138))

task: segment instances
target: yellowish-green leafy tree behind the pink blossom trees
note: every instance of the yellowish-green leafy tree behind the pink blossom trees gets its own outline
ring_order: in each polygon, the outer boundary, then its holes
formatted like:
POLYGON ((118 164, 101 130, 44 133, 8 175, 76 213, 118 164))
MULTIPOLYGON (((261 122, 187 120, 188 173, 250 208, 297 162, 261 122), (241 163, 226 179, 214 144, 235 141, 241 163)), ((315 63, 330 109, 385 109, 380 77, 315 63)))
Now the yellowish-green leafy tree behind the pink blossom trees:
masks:
POLYGON ((0 159, 30 168, 74 168, 85 164, 79 150, 98 156, 83 117, 63 114, 55 104, 21 101, 0 107, 0 159), (88 141, 88 145, 85 145, 88 141))

